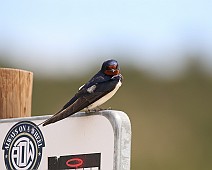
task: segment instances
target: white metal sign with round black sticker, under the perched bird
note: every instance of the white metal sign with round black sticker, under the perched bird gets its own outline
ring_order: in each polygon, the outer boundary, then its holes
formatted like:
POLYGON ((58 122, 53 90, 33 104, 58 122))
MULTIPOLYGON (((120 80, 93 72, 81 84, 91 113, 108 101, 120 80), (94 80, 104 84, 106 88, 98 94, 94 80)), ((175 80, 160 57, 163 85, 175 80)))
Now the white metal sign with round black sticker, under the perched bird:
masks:
POLYGON ((121 111, 0 120, 0 169, 130 170, 131 125, 121 111))

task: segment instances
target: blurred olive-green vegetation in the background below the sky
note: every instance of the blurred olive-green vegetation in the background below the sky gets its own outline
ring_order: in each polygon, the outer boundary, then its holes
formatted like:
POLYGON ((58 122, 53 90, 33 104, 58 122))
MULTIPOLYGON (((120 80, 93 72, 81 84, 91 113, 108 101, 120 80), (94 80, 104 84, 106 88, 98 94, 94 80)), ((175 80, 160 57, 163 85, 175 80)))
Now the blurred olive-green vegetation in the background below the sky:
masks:
MULTIPOLYGON (((1 66, 6 66, 1 62, 1 66)), ((8 65, 7 65, 8 66, 8 65)), ((58 111, 99 68, 84 76, 34 74, 33 115, 58 111)), ((210 170, 212 78, 192 61, 181 76, 161 79, 121 67, 123 86, 104 104, 126 112, 132 124, 131 169, 210 170)))

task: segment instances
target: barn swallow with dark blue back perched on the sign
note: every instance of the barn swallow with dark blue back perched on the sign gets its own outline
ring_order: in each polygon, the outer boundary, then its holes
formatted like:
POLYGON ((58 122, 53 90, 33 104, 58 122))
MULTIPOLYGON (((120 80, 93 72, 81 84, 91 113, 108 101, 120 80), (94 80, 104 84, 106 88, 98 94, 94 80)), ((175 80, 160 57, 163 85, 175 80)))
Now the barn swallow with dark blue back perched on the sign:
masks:
POLYGON ((117 92, 122 84, 122 79, 118 62, 116 60, 105 61, 100 71, 81 86, 61 110, 41 124, 46 126, 81 110, 90 112, 98 108, 117 92))

